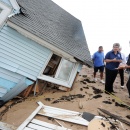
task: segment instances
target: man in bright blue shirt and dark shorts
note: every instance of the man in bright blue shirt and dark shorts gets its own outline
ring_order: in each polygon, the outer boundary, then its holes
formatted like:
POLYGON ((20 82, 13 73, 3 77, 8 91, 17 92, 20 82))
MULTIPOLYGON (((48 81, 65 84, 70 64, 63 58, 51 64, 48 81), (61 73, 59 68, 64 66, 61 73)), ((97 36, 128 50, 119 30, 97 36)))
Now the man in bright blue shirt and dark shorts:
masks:
POLYGON ((96 73, 98 70, 100 71, 100 82, 105 83, 103 81, 103 72, 104 72, 104 53, 103 53, 103 47, 99 46, 98 51, 93 54, 92 57, 93 64, 94 64, 94 81, 97 81, 96 73))

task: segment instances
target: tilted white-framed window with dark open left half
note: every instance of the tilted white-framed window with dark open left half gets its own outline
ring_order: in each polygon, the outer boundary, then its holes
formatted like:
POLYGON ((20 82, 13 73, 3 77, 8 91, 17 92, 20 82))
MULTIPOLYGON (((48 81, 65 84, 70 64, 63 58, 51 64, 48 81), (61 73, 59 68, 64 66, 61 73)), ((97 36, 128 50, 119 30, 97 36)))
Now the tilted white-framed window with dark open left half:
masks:
POLYGON ((38 79, 70 88, 77 73, 78 65, 76 62, 53 54, 38 79))

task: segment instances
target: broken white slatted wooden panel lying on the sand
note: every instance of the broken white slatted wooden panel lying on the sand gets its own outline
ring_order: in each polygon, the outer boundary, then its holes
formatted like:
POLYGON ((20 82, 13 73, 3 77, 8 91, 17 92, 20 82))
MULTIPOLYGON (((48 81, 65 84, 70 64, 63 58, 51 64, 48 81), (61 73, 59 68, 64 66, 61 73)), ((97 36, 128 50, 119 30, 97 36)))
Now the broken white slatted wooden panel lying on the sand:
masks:
POLYGON ((34 119, 36 114, 84 126, 88 126, 89 122, 96 117, 95 115, 87 112, 79 113, 76 111, 50 107, 44 105, 42 102, 38 102, 38 104, 39 106, 36 108, 36 110, 17 128, 17 130, 70 130, 63 126, 57 126, 54 124, 34 119))

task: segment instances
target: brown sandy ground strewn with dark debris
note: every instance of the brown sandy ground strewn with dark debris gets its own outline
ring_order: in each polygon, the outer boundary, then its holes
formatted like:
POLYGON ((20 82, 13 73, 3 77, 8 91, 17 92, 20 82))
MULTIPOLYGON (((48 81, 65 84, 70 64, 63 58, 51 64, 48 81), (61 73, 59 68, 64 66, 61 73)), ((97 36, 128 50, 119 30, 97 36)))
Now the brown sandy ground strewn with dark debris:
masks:
MULTIPOLYGON (((90 112, 95 115, 98 114, 98 108, 105 109, 113 114, 116 114, 118 116, 123 117, 127 121, 130 121, 130 119, 126 118, 127 115, 130 115, 130 110, 124 107, 120 106, 115 106, 115 102, 120 102, 123 101, 125 102, 128 106, 130 106, 130 98, 128 98, 128 92, 127 88, 125 87, 124 89, 120 88, 120 79, 119 76, 116 78, 116 81, 114 83, 114 90, 117 92, 115 96, 110 96, 105 93, 101 93, 102 97, 94 99, 93 96, 94 90, 92 87, 104 90, 104 85, 101 84, 99 81, 97 83, 81 83, 81 81, 84 79, 83 75, 87 75, 87 77, 92 80, 93 76, 93 69, 88 68, 88 67, 83 67, 81 72, 78 74, 78 76, 75 79, 75 82, 73 84, 72 90, 69 92, 63 92, 60 90, 55 90, 55 89, 47 89, 44 91, 43 95, 33 97, 30 96, 28 97, 25 101, 22 103, 18 103, 11 107, 4 116, 2 117, 1 121, 11 124, 15 126, 16 128, 37 108, 37 101, 41 101, 43 104, 48 105, 48 106, 53 106, 53 107, 58 107, 58 108, 63 108, 67 110, 73 110, 73 111, 78 111, 78 112, 90 112), (53 101, 59 99, 63 95, 69 96, 70 94, 82 94, 85 95, 84 98, 76 98, 71 101, 62 101, 58 103, 52 103, 53 101), (51 98, 51 101, 45 100, 46 98, 51 98), (114 99, 114 100, 113 100, 114 99), (103 101, 110 101, 112 104, 106 104, 103 103, 103 101), (79 102, 80 105, 83 106, 82 109, 79 108, 79 102)), ((99 77, 99 73, 97 74, 99 77)), ((128 75, 125 74, 125 83, 128 79, 128 75)), ((2 109, 2 108, 1 108, 2 109)), ((37 116, 36 118, 40 120, 45 120, 47 122, 57 124, 54 120, 49 120, 48 118, 43 118, 41 116, 37 116)), ((87 130, 87 127, 81 126, 81 125, 76 125, 72 123, 67 123, 60 121, 60 123, 72 130, 87 130)), ((123 123, 124 130, 130 130, 130 126, 125 125, 123 123)))

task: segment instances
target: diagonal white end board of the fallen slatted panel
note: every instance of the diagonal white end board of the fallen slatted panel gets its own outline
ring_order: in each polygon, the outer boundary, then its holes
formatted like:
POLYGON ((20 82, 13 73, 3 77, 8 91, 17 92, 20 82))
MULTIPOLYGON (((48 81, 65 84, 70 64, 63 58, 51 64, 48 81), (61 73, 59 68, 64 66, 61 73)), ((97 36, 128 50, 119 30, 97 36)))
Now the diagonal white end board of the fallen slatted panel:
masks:
POLYGON ((43 107, 41 102, 38 102, 39 106, 35 109, 35 111, 17 128, 17 130, 23 130, 27 124, 34 118, 34 116, 40 111, 43 107))

